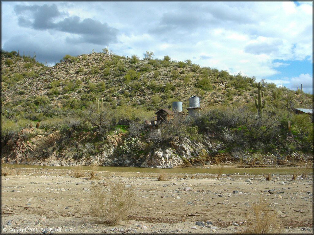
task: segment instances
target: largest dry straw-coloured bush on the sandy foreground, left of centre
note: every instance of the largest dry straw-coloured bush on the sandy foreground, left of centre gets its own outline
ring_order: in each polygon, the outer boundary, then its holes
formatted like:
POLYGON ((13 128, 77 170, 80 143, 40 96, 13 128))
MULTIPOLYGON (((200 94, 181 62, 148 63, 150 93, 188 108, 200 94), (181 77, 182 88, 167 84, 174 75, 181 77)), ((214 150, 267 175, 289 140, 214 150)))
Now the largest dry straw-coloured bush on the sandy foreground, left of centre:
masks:
POLYGON ((121 181, 109 185, 109 190, 99 184, 92 185, 90 197, 92 204, 89 213, 93 217, 98 217, 100 222, 115 226, 120 220, 127 220, 127 213, 134 205, 134 194, 121 181))

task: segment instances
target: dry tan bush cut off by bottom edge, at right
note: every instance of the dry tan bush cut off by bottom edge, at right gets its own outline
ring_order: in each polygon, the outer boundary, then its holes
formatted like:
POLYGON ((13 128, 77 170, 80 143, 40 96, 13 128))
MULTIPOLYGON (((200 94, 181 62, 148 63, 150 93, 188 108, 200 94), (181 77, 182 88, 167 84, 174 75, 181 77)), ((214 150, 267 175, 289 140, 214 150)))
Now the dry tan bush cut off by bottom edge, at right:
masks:
POLYGON ((244 233, 247 234, 267 234, 277 233, 282 229, 277 219, 277 212, 273 212, 268 209, 268 203, 260 198, 259 202, 252 206, 255 217, 253 217, 248 223, 244 233))

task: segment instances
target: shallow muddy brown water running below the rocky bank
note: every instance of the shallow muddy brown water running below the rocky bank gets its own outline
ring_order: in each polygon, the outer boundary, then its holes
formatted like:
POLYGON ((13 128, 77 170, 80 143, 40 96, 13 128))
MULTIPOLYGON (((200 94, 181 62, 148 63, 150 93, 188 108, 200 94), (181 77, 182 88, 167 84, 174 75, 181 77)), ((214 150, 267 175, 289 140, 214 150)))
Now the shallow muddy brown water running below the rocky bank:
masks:
MULTIPOLYGON (((3 165, 2 165, 3 166, 3 165)), ((7 165, 8 167, 14 168, 35 168, 41 169, 44 166, 39 165, 7 165)), ((65 169, 65 170, 74 170, 74 166, 45 166, 45 169, 65 169)), ((90 170, 88 166, 82 166, 82 170, 90 170)), ((251 175, 259 174, 302 174, 305 168, 299 167, 258 167, 258 168, 236 168, 233 166, 226 166, 222 170, 222 174, 232 174, 232 173, 246 173, 251 175)), ((141 167, 115 167, 115 166, 100 166, 98 171, 111 171, 111 172, 140 172, 140 173, 176 173, 176 174, 197 174, 197 173, 208 173, 208 174, 217 174, 219 167, 210 169, 204 167, 186 167, 186 168, 174 168, 174 169, 158 169, 158 168, 141 168, 141 167)), ((313 174, 313 169, 311 168, 309 174, 313 174)))

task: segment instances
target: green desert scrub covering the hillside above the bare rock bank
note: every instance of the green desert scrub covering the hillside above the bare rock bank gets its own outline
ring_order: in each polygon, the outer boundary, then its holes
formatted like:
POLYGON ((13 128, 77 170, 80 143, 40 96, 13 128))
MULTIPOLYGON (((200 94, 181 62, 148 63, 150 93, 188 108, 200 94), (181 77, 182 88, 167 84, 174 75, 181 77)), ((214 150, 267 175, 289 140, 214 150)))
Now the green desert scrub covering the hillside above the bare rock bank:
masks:
MULTIPOLYGON (((61 154, 67 149, 77 160, 92 158, 106 137, 116 133, 122 133, 124 140, 117 157, 147 154, 157 146, 184 138, 202 142, 212 133, 213 141, 220 143, 219 153, 237 148, 249 154, 272 153, 286 158, 313 151, 311 117, 292 112, 297 107, 313 107, 313 96, 301 90, 261 81, 262 99, 267 104, 258 116, 254 76, 230 75, 191 60, 173 61, 167 55, 158 60, 152 52, 146 52, 143 60, 137 55, 92 53, 65 55, 61 61, 46 67, 36 62, 35 56, 1 51, 3 153, 10 154, 12 146, 8 143, 21 129, 35 127, 38 122, 41 135, 56 130, 61 133, 62 138, 49 151, 61 154), (173 101, 182 101, 186 112, 192 95, 200 97, 201 118, 186 122, 175 117, 161 136, 154 136, 143 125, 158 109, 171 109, 173 101), (96 98, 103 99, 99 112, 96 98), (84 133, 95 134, 83 143, 80 137, 84 133)), ((26 136, 25 141, 31 137, 26 136)), ((217 153, 203 154, 210 159, 217 153)))

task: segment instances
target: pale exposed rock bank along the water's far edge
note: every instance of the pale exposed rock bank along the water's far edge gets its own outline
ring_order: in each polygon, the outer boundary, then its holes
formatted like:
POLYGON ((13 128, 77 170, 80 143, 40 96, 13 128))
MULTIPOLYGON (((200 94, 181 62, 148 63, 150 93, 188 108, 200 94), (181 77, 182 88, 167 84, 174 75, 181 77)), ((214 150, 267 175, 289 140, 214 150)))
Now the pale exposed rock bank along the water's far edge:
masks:
POLYGON ((64 146, 62 149, 56 147, 57 142, 62 140, 59 131, 47 135, 41 129, 23 129, 18 133, 17 138, 9 141, 12 151, 10 155, 5 156, 5 162, 50 166, 98 163, 104 166, 174 168, 185 165, 186 160, 197 158, 202 149, 206 152, 217 151, 207 137, 203 142, 191 141, 187 138, 176 140, 170 143, 170 147, 160 146, 147 155, 121 154, 118 147, 122 144, 122 134, 118 134, 108 135, 105 144, 100 146, 96 154, 89 155, 85 151, 85 155, 89 157, 78 158, 76 153, 84 152, 82 143, 88 142, 89 138, 93 138, 93 133, 84 133, 78 137, 76 151, 73 151, 71 146, 64 146))

